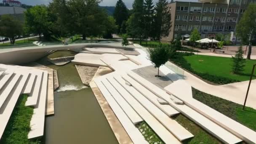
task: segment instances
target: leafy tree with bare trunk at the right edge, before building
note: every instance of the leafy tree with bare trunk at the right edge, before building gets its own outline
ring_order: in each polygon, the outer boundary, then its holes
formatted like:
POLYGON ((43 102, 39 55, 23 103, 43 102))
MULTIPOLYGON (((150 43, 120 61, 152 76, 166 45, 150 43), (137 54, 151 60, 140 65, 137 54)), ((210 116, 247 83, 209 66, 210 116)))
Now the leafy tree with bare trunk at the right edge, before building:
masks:
POLYGON ((248 5, 236 26, 237 36, 249 43, 247 59, 251 59, 252 37, 256 34, 256 3, 248 5))

